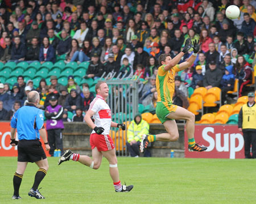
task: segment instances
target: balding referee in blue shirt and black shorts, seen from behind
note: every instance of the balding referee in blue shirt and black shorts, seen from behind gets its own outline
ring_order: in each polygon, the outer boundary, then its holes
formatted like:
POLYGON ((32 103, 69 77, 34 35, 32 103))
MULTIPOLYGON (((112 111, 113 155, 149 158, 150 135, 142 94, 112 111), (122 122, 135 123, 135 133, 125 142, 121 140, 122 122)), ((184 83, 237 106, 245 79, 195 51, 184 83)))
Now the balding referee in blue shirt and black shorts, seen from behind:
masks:
POLYGON ((38 186, 44 176, 46 176, 49 166, 46 153, 44 153, 42 143, 39 141, 40 136, 43 138, 47 151, 49 151, 50 147, 47 141, 46 130, 44 129, 43 112, 36 108, 40 102, 39 93, 31 91, 27 95, 27 100, 27 105, 16 111, 11 119, 11 145, 18 145, 18 165, 13 177, 13 199, 20 199, 19 187, 28 162, 36 163, 39 167, 38 172, 35 174, 34 184, 28 195, 37 199, 44 199, 38 190, 38 186), (16 129, 19 142, 15 140, 16 129))

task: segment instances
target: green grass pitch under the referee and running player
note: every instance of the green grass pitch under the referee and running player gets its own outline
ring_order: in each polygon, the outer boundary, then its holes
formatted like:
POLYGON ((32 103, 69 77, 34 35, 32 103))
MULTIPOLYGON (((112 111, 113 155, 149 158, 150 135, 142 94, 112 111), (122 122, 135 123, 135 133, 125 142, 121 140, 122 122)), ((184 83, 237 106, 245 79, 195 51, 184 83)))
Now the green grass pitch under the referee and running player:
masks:
POLYGON ((122 184, 129 193, 115 193, 109 165, 93 170, 68 161, 60 166, 50 157, 39 188, 46 199, 27 195, 38 167, 28 164, 20 186, 22 199, 13 201, 16 157, 0 157, 0 203, 256 203, 256 160, 118 157, 122 184))

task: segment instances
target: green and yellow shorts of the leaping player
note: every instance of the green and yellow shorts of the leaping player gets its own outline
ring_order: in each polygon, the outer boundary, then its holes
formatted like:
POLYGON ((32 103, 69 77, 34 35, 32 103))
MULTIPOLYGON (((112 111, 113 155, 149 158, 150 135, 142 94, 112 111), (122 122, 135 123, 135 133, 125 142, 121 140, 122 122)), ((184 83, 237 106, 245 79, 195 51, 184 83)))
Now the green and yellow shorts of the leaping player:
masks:
POLYGON ((166 116, 172 112, 175 112, 176 109, 177 109, 177 106, 173 105, 172 103, 158 102, 156 104, 155 112, 156 112, 156 116, 158 116, 161 123, 164 123, 164 122, 166 122, 166 120, 173 120, 170 118, 166 118, 166 116))

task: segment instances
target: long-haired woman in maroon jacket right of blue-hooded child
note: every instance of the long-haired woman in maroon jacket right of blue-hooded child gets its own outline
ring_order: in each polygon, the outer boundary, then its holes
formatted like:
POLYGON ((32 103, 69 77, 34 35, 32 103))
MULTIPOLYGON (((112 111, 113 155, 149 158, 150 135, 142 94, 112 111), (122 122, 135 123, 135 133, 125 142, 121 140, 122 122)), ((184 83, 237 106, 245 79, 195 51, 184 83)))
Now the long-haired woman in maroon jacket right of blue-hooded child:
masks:
POLYGON ((239 97, 241 97, 245 86, 251 83, 251 66, 246 62, 245 57, 238 55, 235 68, 236 78, 238 79, 239 97))

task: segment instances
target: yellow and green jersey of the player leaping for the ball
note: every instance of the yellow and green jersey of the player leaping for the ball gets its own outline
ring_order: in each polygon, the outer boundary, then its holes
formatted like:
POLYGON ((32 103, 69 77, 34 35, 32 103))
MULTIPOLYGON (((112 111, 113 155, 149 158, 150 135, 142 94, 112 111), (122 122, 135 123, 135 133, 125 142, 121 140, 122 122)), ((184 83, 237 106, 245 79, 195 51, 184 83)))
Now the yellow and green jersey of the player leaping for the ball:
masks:
POLYGON ((159 66, 156 76, 156 91, 158 91, 158 102, 172 104, 172 96, 175 91, 175 73, 180 71, 179 65, 175 65, 170 70, 164 70, 164 66, 159 66))

